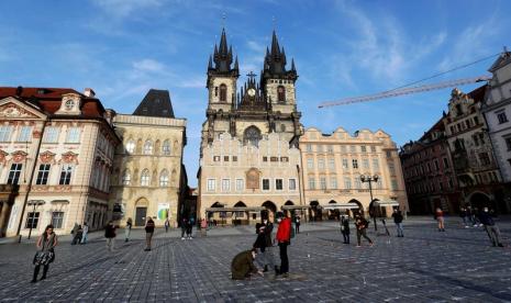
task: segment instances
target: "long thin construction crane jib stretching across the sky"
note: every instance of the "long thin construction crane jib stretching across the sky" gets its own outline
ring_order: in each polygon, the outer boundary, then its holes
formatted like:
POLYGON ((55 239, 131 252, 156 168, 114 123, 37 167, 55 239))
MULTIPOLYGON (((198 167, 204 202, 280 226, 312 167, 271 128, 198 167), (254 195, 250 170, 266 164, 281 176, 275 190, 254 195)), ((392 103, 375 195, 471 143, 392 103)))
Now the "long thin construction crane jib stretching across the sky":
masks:
POLYGON ((452 87, 464 86, 464 85, 471 85, 471 83, 488 81, 490 79, 491 79, 491 75, 482 75, 479 77, 455 79, 455 80, 448 80, 444 82, 420 86, 420 87, 400 88, 400 89, 382 91, 382 92, 368 94, 368 96, 345 98, 345 99, 341 99, 338 101, 333 101, 333 102, 323 102, 318 108, 323 109, 323 108, 329 108, 329 106, 362 103, 362 102, 375 101, 375 100, 385 99, 385 98, 392 98, 392 97, 399 97, 399 96, 404 96, 404 94, 419 93, 419 92, 424 92, 424 91, 452 88, 452 87))

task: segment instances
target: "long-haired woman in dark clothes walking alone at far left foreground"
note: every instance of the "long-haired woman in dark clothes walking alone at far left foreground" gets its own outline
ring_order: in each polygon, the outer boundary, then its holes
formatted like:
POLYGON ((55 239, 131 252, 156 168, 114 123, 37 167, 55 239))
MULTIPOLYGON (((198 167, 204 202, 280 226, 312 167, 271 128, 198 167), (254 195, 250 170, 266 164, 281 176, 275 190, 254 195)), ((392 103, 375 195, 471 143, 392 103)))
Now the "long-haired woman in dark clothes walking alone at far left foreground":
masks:
POLYGON ((49 263, 55 260, 55 247, 58 244, 57 235, 53 232, 53 225, 49 224, 44 229, 44 233, 37 238, 36 248, 37 251, 35 252, 33 263, 34 268, 34 276, 32 278, 32 283, 37 282, 37 276, 41 270, 41 266, 43 266, 43 277, 41 280, 46 279, 46 274, 48 273, 49 263))

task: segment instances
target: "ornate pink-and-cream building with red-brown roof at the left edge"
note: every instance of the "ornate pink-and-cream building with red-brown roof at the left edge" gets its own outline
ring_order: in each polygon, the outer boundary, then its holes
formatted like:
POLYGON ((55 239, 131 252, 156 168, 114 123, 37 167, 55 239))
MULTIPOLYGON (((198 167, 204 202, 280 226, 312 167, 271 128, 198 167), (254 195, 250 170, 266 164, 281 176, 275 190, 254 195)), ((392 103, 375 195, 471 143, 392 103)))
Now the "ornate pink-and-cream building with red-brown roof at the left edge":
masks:
POLYGON ((11 191, 2 201, 2 235, 104 225, 120 143, 111 116, 90 89, 0 88, 0 183, 11 191))

